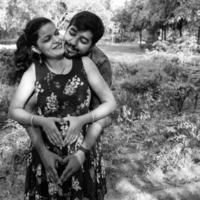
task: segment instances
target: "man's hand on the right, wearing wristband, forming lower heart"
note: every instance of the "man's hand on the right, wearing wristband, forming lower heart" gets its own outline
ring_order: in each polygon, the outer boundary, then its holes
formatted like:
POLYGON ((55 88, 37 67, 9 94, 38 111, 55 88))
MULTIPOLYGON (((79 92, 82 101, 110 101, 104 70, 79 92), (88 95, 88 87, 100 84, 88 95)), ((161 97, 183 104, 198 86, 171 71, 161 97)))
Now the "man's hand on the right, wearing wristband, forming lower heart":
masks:
POLYGON ((80 150, 64 158, 63 163, 66 164, 66 168, 60 177, 60 182, 64 183, 72 174, 78 171, 83 165, 84 160, 85 154, 80 150))

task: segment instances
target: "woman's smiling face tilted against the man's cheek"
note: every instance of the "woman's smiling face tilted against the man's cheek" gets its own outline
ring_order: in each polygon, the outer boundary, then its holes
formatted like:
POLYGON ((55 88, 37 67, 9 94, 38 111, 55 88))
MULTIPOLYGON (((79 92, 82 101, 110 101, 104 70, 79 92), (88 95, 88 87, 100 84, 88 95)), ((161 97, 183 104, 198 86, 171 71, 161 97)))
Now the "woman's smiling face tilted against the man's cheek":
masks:
POLYGON ((47 58, 57 58, 64 54, 63 38, 53 23, 47 23, 38 31, 37 48, 47 58))

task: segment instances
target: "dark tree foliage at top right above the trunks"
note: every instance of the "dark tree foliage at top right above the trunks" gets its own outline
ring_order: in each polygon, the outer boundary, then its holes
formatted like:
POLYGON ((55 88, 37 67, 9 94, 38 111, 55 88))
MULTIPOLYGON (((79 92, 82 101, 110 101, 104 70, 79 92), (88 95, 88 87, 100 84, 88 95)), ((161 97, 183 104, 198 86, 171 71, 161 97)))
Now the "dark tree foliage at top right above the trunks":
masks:
POLYGON ((198 0, 130 0, 112 19, 119 23, 120 28, 124 31, 138 31, 140 41, 144 29, 149 32, 149 41, 147 42, 154 42, 158 39, 158 32, 162 39, 166 40, 167 31, 175 33, 178 30, 179 37, 182 37, 183 28, 185 28, 192 35, 198 31, 199 43, 199 11, 198 0))

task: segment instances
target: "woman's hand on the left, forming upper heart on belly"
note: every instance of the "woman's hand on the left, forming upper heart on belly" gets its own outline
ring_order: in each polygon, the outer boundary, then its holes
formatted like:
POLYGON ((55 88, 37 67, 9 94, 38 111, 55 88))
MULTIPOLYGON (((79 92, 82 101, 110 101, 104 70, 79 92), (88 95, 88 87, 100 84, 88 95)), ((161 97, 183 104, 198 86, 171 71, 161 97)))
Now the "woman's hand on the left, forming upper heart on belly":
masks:
POLYGON ((62 119, 56 117, 43 117, 40 119, 40 125, 45 131, 49 141, 56 146, 63 146, 64 141, 56 123, 62 123, 62 119))

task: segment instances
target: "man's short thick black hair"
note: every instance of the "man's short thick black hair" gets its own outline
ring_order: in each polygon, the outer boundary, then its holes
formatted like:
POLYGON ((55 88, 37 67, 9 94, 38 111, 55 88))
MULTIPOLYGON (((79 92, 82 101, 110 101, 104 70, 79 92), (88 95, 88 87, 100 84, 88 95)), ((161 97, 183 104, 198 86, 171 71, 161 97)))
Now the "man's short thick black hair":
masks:
POLYGON ((75 26, 78 31, 91 31, 92 43, 96 44, 104 34, 104 25, 99 16, 89 11, 82 11, 74 15, 69 26, 75 26))

